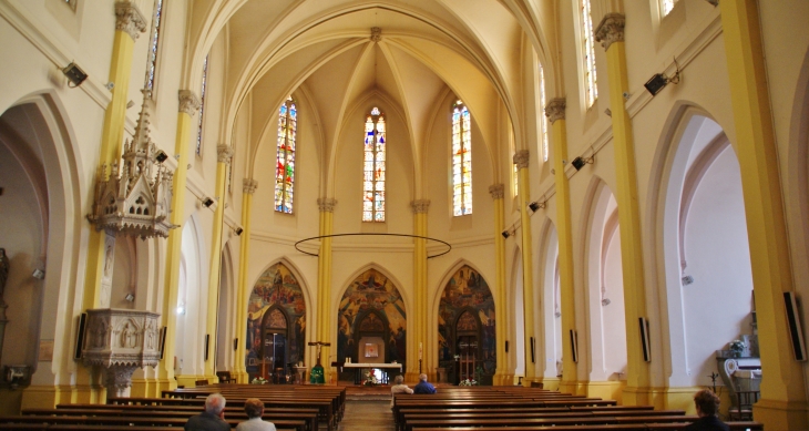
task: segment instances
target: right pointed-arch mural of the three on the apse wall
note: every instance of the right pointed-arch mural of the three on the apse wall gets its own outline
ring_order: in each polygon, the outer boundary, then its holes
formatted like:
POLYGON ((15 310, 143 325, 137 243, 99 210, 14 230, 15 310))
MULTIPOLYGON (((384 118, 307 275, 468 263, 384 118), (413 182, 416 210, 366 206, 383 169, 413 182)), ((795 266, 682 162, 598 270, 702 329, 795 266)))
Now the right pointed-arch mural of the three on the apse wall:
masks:
POLYGON ((459 362, 473 363, 482 382, 491 381, 496 369, 494 339, 494 298, 481 275, 463 266, 447 283, 438 316, 439 365, 453 371, 460 380, 459 362))

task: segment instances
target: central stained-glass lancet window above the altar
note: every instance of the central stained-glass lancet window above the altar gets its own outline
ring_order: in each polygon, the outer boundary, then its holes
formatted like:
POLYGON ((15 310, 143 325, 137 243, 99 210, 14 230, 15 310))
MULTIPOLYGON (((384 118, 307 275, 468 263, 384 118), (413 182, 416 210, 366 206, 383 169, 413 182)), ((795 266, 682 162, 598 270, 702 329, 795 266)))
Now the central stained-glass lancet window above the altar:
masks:
POLYGON ((362 222, 385 222, 385 114, 373 107, 366 116, 362 222))

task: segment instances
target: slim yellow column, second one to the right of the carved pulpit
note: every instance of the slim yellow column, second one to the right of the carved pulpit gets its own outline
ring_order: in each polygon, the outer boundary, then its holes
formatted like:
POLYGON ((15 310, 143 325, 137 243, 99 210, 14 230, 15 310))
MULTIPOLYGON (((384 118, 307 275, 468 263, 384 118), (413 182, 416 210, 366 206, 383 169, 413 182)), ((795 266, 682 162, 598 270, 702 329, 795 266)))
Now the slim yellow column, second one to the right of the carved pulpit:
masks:
POLYGON ((211 238, 211 268, 208 270, 208 310, 205 321, 205 333, 208 339, 205 361, 205 378, 216 380, 216 322, 219 314, 219 275, 222 274, 222 235, 225 222, 225 187, 227 186, 227 166, 233 157, 233 148, 227 144, 216 147, 216 211, 214 212, 214 233, 211 238))

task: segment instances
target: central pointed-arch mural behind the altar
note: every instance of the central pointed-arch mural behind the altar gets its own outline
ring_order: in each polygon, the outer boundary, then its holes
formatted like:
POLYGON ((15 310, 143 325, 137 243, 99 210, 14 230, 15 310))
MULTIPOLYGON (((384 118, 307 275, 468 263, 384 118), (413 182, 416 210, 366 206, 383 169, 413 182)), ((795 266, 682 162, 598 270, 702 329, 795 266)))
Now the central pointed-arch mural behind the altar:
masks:
MULTIPOLYGON (((380 357, 373 362, 397 361, 406 369, 404 301, 388 277, 375 269, 368 269, 351 281, 340 300, 338 319, 339 361, 345 361, 346 357, 358 361, 357 342, 361 333, 385 333, 385 358, 380 357), (358 321, 358 318, 362 321, 358 321), (382 320, 387 320, 387 327, 382 320)), ((365 353, 368 355, 367 351, 365 353)))

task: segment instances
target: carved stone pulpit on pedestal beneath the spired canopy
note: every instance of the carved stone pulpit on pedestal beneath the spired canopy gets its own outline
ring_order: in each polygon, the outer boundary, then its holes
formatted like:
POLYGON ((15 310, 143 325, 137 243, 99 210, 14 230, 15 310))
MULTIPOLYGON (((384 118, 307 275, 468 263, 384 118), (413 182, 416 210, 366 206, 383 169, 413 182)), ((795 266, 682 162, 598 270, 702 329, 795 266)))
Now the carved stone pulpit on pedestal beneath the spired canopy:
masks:
POLYGON ((160 363, 160 315, 123 309, 88 310, 82 359, 105 369, 107 397, 129 397, 136 368, 160 363))

